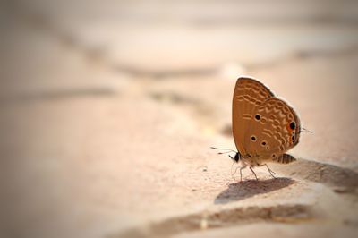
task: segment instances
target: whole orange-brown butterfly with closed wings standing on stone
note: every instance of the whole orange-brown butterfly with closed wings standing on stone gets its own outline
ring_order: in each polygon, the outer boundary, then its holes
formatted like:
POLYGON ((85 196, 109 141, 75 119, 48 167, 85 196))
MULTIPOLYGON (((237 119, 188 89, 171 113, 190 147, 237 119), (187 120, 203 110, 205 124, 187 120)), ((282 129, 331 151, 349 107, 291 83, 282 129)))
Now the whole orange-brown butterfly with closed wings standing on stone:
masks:
MULTIPOLYGON (((242 170, 249 166, 266 166, 268 162, 288 164, 296 159, 286 154, 300 140, 300 118, 283 99, 277 98, 262 82, 249 77, 236 81, 233 97, 233 136, 237 152, 231 157, 241 163, 242 170)), ((213 148, 217 149, 217 148, 213 148)), ((225 152, 226 153, 226 152, 225 152)), ((220 153, 222 154, 222 153, 220 153)))

